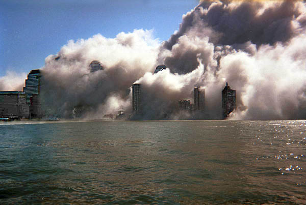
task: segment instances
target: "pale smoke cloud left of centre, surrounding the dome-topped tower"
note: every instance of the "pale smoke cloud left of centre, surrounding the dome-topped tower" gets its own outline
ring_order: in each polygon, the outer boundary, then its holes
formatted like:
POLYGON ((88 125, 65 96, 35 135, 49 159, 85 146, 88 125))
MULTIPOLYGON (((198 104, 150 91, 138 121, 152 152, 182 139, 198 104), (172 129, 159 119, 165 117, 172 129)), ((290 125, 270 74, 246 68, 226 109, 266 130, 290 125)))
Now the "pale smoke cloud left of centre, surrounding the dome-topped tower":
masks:
POLYGON ((101 119, 124 108, 131 110, 128 90, 146 72, 154 70, 159 42, 151 31, 120 33, 115 39, 95 35, 70 41, 45 60, 42 99, 48 115, 101 119), (104 70, 90 73, 99 61, 104 70))

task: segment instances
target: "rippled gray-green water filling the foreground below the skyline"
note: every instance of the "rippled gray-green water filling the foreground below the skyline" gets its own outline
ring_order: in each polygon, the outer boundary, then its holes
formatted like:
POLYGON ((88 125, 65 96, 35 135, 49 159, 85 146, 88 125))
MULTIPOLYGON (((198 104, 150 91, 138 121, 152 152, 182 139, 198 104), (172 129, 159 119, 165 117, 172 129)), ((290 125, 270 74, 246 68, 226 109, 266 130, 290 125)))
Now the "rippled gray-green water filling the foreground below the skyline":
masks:
POLYGON ((0 203, 306 203, 306 121, 0 125, 0 203))

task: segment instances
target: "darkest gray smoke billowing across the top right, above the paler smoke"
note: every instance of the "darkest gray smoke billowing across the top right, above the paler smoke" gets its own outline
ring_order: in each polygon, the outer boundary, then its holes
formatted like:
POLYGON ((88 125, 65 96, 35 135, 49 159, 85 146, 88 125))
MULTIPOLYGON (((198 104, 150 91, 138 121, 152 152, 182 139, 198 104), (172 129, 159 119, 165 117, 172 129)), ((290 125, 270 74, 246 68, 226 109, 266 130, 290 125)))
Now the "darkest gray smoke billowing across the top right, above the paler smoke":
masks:
POLYGON ((245 43, 260 46, 287 42, 305 29, 305 23, 304 5, 299 1, 203 1, 183 16, 180 30, 163 42, 162 50, 173 50, 176 45, 180 52, 161 56, 160 62, 164 61, 178 73, 187 73, 197 67, 193 53, 200 53, 203 58, 207 55, 198 47, 182 50, 178 44, 184 36, 200 40, 209 38, 214 45, 231 45, 248 52, 245 43), (182 61, 179 63, 177 58, 182 61))

